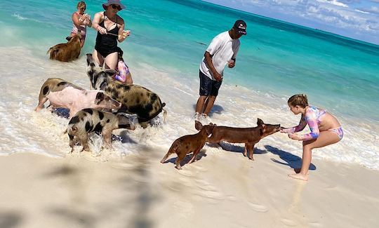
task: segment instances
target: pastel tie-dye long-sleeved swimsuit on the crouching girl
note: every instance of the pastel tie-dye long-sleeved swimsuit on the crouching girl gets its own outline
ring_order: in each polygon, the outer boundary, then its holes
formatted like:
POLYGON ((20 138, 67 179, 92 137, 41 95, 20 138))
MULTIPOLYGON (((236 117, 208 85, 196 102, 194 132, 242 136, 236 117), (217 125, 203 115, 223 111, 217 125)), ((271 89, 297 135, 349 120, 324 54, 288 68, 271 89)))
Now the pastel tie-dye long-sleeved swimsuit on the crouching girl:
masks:
MULTIPOLYGON (((318 109, 317 107, 310 106, 305 111, 305 116, 304 116, 304 118, 302 118, 300 120, 299 125, 295 126, 293 128, 287 128, 285 130, 285 132, 286 133, 295 133, 295 132, 298 132, 298 131, 304 129, 305 126, 307 126, 307 124, 308 124, 308 126, 310 126, 311 132, 307 133, 305 135, 299 135, 300 136, 299 140, 302 140, 302 141, 314 140, 317 137, 319 137, 319 133, 320 133, 319 124, 321 123, 321 117, 324 116, 324 114, 326 114, 325 110, 318 109)), ((343 138, 343 129, 342 129, 342 127, 331 128, 331 129, 328 129, 328 130, 330 130, 333 133, 337 134, 338 138, 340 138, 340 140, 343 138)))

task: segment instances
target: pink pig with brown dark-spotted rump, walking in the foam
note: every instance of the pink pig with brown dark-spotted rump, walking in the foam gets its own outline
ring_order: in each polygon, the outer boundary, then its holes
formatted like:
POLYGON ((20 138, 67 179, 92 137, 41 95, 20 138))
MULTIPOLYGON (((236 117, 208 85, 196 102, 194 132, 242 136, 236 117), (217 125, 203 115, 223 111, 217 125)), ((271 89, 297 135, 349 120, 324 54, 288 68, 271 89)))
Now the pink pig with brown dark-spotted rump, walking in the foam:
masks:
POLYGON ((84 90, 79 86, 62 79, 48 79, 41 87, 39 104, 35 108, 39 111, 49 100, 53 107, 69 109, 69 118, 81 109, 119 109, 121 103, 106 95, 102 90, 84 90))

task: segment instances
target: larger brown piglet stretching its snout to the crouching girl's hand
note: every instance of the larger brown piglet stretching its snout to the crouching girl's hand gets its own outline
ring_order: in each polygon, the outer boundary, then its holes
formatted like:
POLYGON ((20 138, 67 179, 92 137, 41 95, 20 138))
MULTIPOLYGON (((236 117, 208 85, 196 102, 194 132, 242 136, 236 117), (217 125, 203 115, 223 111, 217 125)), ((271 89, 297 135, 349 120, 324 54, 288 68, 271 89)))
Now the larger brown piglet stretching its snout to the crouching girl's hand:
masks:
POLYGON ((250 152, 248 158, 254 160, 254 145, 257 142, 259 142, 262 138, 265 138, 267 135, 277 133, 281 129, 280 124, 273 125, 263 123, 263 121, 259 118, 257 124, 258 126, 256 126, 255 128, 232 128, 225 126, 216 126, 213 129, 211 137, 207 138, 206 142, 244 143, 244 156, 247 156, 248 152, 250 152))

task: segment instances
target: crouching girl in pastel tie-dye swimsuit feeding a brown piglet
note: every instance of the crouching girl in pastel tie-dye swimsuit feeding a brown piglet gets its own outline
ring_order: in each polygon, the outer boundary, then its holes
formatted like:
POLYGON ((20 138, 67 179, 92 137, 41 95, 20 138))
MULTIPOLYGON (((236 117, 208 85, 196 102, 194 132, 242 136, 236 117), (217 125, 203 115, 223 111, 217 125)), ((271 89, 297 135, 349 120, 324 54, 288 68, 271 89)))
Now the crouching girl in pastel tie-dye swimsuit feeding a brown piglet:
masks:
POLYGON ((300 180, 308 180, 308 170, 312 160, 312 149, 321 148, 327 145, 339 142, 343 138, 343 129, 337 119, 323 109, 318 109, 308 105, 305 94, 293 95, 288 99, 288 106, 293 114, 302 114, 298 126, 293 128, 282 128, 282 133, 288 133, 288 137, 293 140, 302 141, 302 165, 300 173, 290 174, 288 176, 300 180), (325 128, 331 126, 328 130, 319 130, 319 126, 325 128), (295 134, 310 126, 310 133, 305 135, 295 134))

